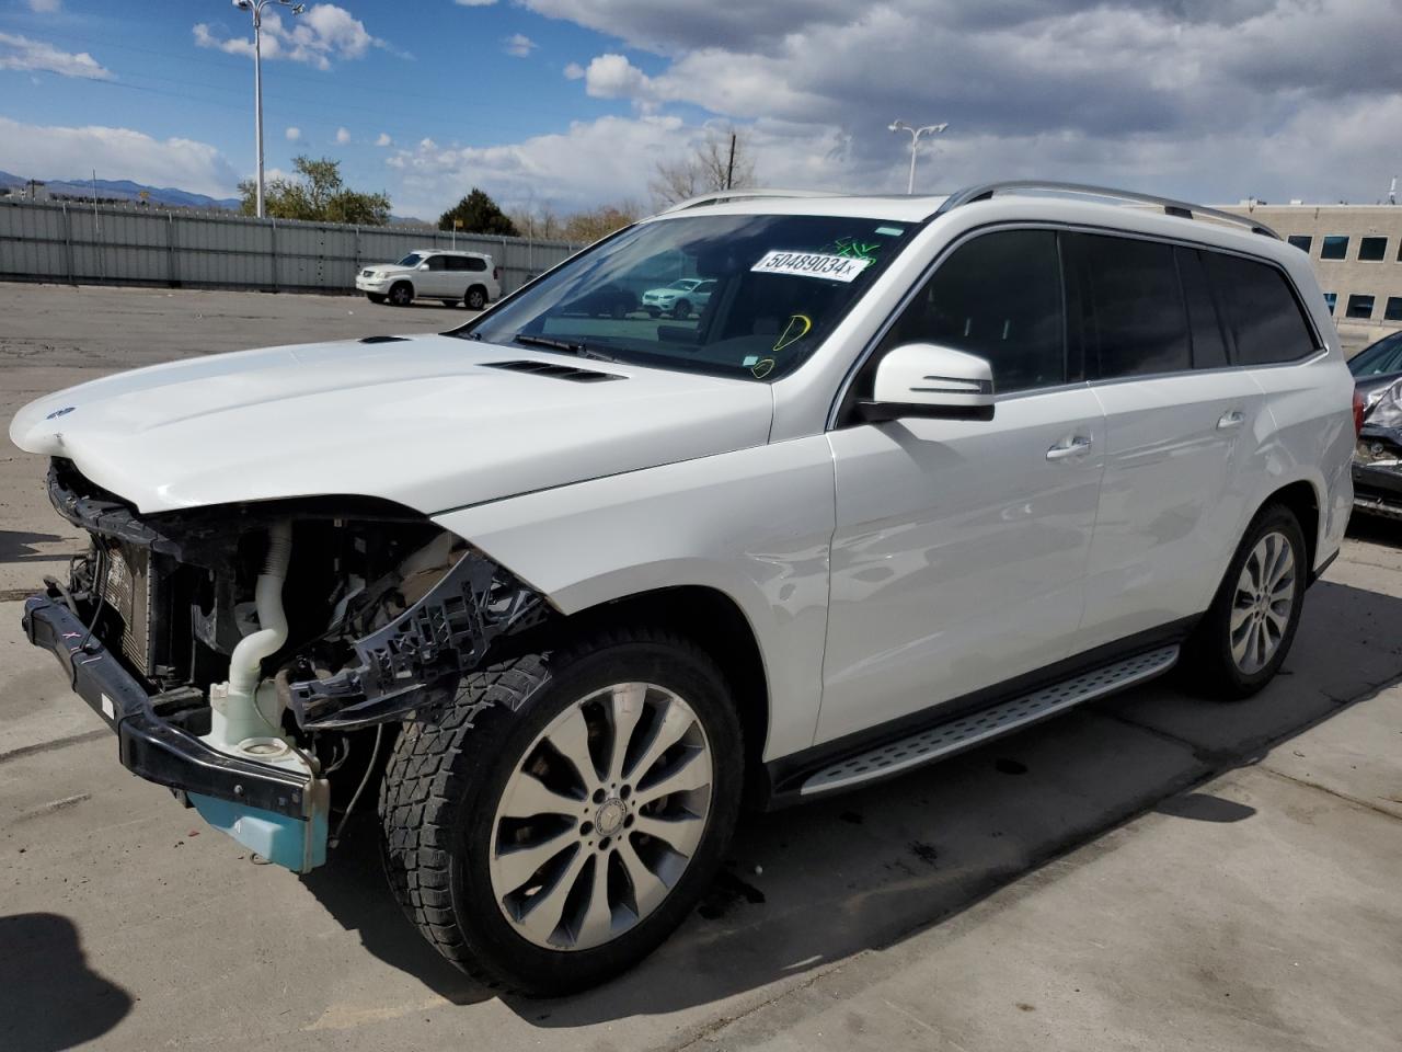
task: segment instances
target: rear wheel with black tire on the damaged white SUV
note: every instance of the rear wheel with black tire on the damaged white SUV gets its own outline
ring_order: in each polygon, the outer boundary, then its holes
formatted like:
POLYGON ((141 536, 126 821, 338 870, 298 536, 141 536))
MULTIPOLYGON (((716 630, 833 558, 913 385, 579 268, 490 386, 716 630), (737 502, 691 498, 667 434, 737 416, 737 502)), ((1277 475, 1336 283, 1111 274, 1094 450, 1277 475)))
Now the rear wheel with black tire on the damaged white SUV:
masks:
POLYGON ((1274 679, 1300 627, 1307 553, 1294 512, 1270 504, 1256 515, 1183 648, 1183 672, 1192 686, 1209 697, 1237 701, 1274 679), (1265 591, 1255 588, 1262 572, 1265 591))

